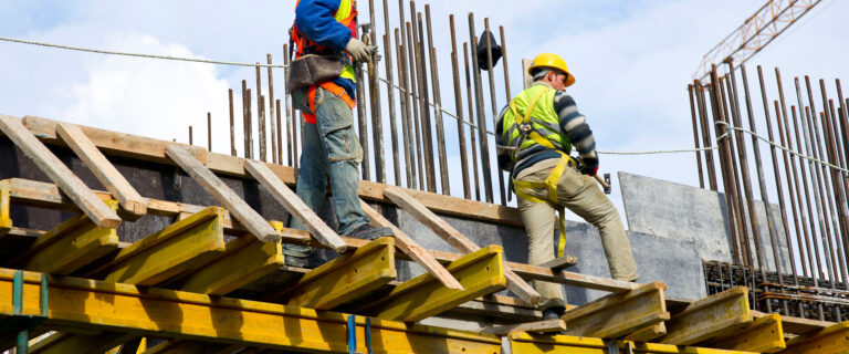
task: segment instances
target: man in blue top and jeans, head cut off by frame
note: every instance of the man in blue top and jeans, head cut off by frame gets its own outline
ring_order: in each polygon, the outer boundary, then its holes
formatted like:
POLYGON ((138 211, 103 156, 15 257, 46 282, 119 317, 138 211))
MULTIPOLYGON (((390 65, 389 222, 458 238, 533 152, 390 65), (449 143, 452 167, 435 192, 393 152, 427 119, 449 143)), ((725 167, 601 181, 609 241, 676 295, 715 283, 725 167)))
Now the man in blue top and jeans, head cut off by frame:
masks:
MULTIPOLYGON (((367 61, 376 48, 357 39, 357 10, 352 0, 300 0, 295 23, 290 31, 297 58, 316 54, 340 61, 340 73, 325 81, 293 90, 293 106, 304 115, 297 196, 318 211, 324 202, 329 178, 333 209, 340 236, 376 239, 391 236, 389 228, 374 228, 359 205, 358 166, 363 148, 354 134, 352 110, 355 106, 355 62, 367 61)), ((326 67, 311 67, 321 72, 326 67)), ((292 228, 304 230, 293 218, 292 228)), ((312 249, 284 244, 286 263, 305 267, 312 249)))

